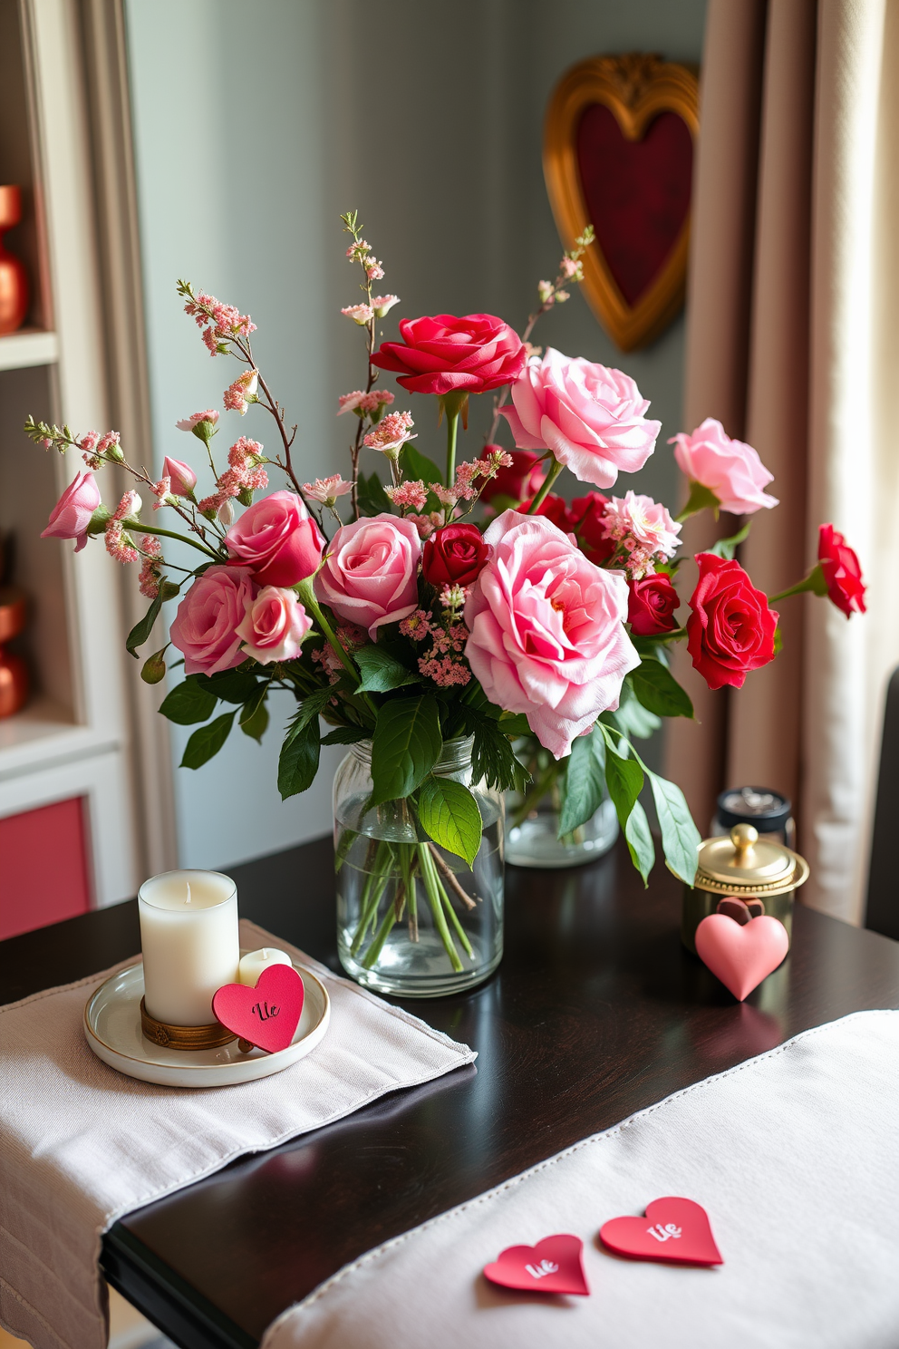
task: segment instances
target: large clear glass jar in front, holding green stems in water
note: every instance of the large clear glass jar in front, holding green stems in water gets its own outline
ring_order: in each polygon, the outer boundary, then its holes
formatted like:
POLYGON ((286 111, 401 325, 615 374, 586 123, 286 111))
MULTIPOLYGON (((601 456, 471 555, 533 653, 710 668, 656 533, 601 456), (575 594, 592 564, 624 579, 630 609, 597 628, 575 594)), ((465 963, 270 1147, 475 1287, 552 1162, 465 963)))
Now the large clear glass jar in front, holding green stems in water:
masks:
POLYGON ((419 824, 415 797, 371 805, 371 741, 334 776, 337 950, 359 983, 404 998, 470 989, 503 956, 503 799, 472 780, 472 741, 447 741, 435 777, 462 782, 481 812, 472 866, 419 824))

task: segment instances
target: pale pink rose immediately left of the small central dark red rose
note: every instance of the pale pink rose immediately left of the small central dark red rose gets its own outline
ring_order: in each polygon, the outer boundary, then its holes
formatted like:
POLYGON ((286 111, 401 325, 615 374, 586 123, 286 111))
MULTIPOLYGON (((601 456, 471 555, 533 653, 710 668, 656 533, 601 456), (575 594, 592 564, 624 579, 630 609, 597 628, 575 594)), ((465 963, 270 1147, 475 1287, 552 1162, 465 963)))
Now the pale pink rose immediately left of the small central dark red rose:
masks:
POLYGON ((368 629, 372 641, 384 623, 399 623, 418 607, 418 529, 396 515, 372 515, 334 534, 315 577, 315 594, 338 618, 368 629))

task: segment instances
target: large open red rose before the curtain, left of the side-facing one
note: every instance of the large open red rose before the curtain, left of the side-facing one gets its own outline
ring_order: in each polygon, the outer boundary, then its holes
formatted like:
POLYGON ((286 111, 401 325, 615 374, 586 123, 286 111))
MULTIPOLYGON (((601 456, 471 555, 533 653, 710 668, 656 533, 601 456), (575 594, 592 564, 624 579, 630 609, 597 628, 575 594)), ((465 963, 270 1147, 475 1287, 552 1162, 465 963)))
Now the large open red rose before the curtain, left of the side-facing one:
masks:
POLYGON ((697 553, 700 583, 690 598, 687 650, 709 688, 743 688, 749 670, 774 660, 778 614, 739 563, 697 553))

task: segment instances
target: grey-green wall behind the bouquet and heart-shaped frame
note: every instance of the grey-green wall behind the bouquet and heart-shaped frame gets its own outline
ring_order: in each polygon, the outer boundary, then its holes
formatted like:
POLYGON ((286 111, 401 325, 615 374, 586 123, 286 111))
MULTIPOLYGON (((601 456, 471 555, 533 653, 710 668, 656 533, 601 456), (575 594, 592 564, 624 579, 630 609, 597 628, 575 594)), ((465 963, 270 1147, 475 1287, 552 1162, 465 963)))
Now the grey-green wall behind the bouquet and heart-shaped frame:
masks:
MULTIPOLYGON (((251 312, 311 478, 345 465, 337 395, 363 379, 359 332, 338 313, 356 299, 338 213, 359 206, 383 286, 402 297, 394 316, 488 310, 523 325, 559 256, 540 169, 553 85, 604 51, 698 62, 705 0, 127 0, 127 19, 158 460, 199 449, 174 422, 221 406, 233 378, 181 313, 174 283, 187 277, 251 312)), ((669 499, 682 320, 623 357, 576 295, 535 340, 635 376, 663 432, 628 486, 669 499)), ((411 406, 435 453, 433 406, 411 406)), ((485 415, 474 410, 472 434, 485 415)), ((224 417, 228 434, 237 418, 224 417)), ((271 438, 260 409, 239 433, 271 438)), ((183 865, 228 866, 330 828, 336 755, 305 797, 282 805, 275 789, 286 714, 261 749, 235 738, 175 774, 183 865)), ((185 738, 173 727, 175 761, 185 738)))

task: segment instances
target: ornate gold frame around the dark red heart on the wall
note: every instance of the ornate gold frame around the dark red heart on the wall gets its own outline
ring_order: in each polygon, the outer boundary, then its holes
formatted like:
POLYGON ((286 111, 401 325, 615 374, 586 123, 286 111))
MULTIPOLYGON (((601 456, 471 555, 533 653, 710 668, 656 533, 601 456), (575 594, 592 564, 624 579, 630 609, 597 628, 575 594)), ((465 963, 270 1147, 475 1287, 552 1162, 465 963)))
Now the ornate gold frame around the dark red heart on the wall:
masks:
MULTIPOLYGON (((577 158, 581 119, 594 104, 607 107, 627 140, 642 140, 660 112, 687 125, 695 147, 700 86, 695 70, 631 53, 592 57, 562 76, 546 111, 543 174, 559 236, 566 248, 590 224, 577 158)), ((654 279, 633 305, 621 294, 598 241, 584 255, 584 291, 593 313, 621 351, 646 347, 677 316, 686 294, 690 212, 654 279)))

